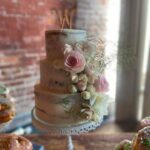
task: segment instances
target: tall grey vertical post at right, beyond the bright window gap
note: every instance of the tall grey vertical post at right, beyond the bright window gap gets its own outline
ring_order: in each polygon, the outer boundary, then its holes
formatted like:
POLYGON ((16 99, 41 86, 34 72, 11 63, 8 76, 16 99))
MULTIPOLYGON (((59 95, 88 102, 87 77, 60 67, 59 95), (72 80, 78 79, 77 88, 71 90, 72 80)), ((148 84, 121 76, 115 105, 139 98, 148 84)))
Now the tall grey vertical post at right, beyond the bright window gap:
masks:
MULTIPOLYGON (((123 63, 120 64, 121 70, 117 71, 116 119, 118 121, 137 121, 142 117, 150 41, 149 8, 148 0, 121 3, 119 48, 123 45, 125 48, 123 52, 130 48, 129 57, 135 56, 135 60, 132 59, 134 61, 129 64, 128 69, 123 63)), ((120 51, 121 49, 118 52, 120 51)))

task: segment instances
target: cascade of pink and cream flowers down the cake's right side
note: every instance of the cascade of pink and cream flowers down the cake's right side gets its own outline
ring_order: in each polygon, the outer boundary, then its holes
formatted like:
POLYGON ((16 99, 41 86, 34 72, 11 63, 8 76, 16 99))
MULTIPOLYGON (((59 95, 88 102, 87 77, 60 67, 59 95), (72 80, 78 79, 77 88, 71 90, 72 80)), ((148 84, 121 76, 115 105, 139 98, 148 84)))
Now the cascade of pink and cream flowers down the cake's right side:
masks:
POLYGON ((75 110, 76 115, 98 121, 100 116, 107 114, 108 96, 105 93, 109 90, 109 83, 104 70, 110 59, 104 56, 99 44, 91 41, 65 44, 63 54, 63 64, 56 61, 54 64, 70 73, 68 92, 78 93, 81 97, 81 107, 79 112, 75 110), (101 108, 98 107, 100 103, 101 108))

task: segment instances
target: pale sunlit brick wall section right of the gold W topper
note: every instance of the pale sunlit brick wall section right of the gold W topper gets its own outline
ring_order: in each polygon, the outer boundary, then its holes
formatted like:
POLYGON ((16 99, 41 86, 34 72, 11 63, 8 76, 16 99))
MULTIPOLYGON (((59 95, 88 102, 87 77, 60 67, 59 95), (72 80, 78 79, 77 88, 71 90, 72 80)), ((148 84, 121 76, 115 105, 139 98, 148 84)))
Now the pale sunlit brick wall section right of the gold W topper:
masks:
POLYGON ((76 27, 87 30, 90 36, 105 38, 109 2, 110 0, 78 0, 76 27))

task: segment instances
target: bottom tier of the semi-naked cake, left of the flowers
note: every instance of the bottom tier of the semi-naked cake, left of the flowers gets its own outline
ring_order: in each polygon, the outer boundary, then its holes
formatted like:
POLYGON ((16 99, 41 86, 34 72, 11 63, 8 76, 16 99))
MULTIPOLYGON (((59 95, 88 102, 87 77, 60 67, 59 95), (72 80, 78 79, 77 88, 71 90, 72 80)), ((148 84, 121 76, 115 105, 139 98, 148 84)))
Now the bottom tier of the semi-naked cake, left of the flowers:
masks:
POLYGON ((58 94, 35 86, 35 114, 50 124, 75 125, 87 122, 80 117, 81 99, 79 94, 58 94))

